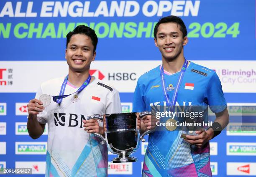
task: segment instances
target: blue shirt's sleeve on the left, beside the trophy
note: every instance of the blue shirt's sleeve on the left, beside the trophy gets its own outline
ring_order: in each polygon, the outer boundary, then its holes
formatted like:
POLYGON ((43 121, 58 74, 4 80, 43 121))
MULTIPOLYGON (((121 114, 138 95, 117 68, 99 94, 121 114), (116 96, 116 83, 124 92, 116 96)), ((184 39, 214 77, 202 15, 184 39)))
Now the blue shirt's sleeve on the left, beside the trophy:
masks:
POLYGON ((141 90, 141 86, 138 80, 133 96, 133 112, 141 112, 146 110, 146 104, 143 100, 143 97, 144 93, 141 90))

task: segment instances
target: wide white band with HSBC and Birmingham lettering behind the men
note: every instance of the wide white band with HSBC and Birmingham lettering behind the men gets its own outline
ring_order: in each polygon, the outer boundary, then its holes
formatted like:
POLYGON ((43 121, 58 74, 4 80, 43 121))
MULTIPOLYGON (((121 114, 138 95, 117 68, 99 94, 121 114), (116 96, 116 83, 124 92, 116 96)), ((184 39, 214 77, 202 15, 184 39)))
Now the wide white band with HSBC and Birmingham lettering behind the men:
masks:
MULTIPOLYGON (((253 68, 256 66, 256 61, 193 62, 215 70, 225 93, 256 93, 256 69, 253 68)), ((160 60, 94 61, 90 73, 107 81, 120 92, 134 92, 139 76, 160 64, 160 60)), ((0 92, 3 93, 36 92, 42 82, 65 76, 68 71, 66 61, 0 61, 0 66, 13 68, 13 74, 15 74, 12 85, 0 87, 0 92), (31 73, 38 73, 38 75, 31 76, 31 73)))

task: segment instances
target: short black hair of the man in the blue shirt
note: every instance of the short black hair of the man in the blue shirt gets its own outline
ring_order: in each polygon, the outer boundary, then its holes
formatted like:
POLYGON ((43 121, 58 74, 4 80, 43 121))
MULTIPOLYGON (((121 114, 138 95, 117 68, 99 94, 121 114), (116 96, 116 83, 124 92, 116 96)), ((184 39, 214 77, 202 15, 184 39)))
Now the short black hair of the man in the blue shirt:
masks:
POLYGON ((156 33, 158 31, 158 27, 162 23, 177 23, 179 25, 179 30, 183 34, 182 37, 184 38, 185 36, 187 36, 187 28, 186 28, 184 22, 182 21, 182 19, 177 16, 170 15, 168 17, 160 18, 160 20, 156 23, 156 26, 154 28, 154 38, 156 38, 156 33))

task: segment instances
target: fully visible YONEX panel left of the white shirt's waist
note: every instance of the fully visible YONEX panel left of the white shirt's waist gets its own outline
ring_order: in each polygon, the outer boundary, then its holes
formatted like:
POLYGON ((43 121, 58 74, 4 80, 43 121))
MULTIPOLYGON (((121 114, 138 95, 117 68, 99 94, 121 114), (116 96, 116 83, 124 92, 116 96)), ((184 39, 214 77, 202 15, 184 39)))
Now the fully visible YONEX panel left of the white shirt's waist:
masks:
POLYGON ((47 142, 15 142, 15 154, 46 154, 47 142))

